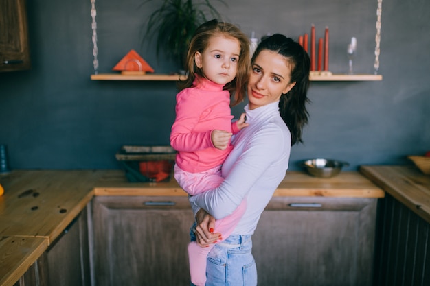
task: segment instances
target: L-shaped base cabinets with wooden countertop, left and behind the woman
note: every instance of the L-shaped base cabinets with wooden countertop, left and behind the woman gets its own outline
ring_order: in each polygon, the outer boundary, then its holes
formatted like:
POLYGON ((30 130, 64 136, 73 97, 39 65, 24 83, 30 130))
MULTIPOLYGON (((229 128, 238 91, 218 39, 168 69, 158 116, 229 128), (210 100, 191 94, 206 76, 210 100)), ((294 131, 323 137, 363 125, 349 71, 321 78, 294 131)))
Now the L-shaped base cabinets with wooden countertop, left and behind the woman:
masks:
MULTIPOLYGON (((130 183, 122 170, 14 170, 0 180, 1 286, 190 285, 194 218, 173 179, 130 183)), ((288 172, 253 236, 258 285, 364 285, 375 202, 383 197, 357 172, 288 172)))

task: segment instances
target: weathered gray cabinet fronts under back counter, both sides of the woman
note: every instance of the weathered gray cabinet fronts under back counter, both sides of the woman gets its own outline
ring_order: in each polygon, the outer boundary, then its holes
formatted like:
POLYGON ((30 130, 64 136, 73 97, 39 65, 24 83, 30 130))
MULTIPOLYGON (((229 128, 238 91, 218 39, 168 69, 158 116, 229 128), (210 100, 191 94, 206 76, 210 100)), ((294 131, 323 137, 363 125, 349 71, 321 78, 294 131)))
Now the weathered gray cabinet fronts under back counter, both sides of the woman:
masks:
MULTIPOLYGON (((376 204, 272 198, 253 235, 258 285, 370 285, 376 204)), ((192 219, 186 197, 95 197, 97 285, 189 285, 192 219)))

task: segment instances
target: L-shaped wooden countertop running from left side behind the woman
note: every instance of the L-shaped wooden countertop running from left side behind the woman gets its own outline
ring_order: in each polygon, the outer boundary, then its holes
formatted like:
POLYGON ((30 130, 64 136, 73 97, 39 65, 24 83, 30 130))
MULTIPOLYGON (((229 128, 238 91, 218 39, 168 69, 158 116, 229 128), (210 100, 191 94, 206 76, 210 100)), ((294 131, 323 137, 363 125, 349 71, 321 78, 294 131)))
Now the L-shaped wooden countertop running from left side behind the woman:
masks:
MULTIPOLYGON (((174 179, 130 183, 121 170, 14 170, 0 183, 1 286, 12 286, 94 195, 186 195, 174 179)), ((288 172, 274 195, 383 198, 384 192, 359 172, 334 178, 288 172)))

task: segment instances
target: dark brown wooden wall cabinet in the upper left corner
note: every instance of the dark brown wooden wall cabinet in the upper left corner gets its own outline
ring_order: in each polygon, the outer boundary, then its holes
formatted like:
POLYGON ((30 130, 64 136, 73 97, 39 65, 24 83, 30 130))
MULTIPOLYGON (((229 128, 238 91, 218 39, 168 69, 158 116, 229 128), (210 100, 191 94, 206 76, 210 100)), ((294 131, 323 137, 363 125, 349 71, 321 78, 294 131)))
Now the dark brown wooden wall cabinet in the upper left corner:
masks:
POLYGON ((0 1, 0 71, 30 69, 25 0, 0 1))

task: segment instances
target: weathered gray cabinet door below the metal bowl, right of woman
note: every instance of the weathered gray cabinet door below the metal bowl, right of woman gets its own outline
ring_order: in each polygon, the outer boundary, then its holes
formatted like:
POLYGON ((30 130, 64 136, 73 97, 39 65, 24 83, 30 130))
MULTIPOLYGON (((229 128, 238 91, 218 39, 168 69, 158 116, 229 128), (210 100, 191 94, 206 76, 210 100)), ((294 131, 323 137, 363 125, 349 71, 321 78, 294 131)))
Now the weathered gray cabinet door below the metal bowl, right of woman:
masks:
POLYGON ((372 285, 376 202, 272 198, 253 235, 258 285, 372 285))

